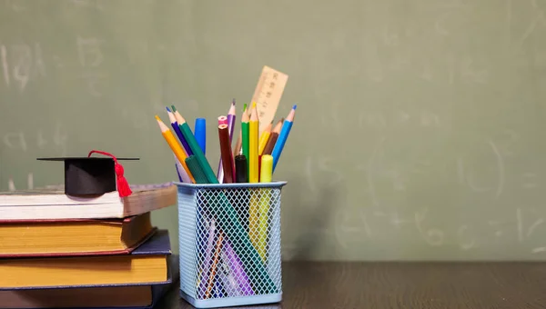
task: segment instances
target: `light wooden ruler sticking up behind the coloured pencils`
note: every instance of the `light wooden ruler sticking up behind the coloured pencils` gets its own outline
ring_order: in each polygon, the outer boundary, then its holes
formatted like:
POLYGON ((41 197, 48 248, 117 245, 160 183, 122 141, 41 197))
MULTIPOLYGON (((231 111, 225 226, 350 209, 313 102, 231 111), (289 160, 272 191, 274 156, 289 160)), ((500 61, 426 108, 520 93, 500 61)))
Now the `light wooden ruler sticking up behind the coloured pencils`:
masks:
POLYGON ((256 102, 260 134, 275 119, 278 103, 287 85, 287 81, 288 75, 278 72, 268 65, 264 66, 250 103, 256 102))

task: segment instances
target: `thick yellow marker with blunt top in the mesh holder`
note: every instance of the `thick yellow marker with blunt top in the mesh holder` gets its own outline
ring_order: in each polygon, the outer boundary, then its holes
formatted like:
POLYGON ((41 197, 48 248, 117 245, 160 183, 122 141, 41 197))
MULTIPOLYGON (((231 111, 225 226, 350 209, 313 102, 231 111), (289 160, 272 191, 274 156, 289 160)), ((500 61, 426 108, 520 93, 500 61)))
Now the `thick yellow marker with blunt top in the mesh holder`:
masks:
MULTIPOLYGON (((269 154, 262 155, 260 183, 270 183, 273 173, 273 157, 269 154)), ((267 243, 268 243, 268 220, 269 220, 269 203, 270 203, 270 190, 268 188, 262 188, 259 199, 259 241, 258 241, 258 254, 261 255, 262 260, 266 262, 267 258, 267 243)))

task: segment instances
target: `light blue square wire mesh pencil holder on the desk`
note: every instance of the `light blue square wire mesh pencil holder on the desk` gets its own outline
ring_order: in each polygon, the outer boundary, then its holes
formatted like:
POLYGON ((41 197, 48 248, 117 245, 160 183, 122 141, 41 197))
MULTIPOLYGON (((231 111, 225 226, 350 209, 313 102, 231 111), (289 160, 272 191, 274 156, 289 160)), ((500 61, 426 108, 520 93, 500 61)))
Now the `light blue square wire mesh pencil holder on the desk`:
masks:
POLYGON ((287 183, 176 184, 180 296, 197 308, 280 302, 287 183))

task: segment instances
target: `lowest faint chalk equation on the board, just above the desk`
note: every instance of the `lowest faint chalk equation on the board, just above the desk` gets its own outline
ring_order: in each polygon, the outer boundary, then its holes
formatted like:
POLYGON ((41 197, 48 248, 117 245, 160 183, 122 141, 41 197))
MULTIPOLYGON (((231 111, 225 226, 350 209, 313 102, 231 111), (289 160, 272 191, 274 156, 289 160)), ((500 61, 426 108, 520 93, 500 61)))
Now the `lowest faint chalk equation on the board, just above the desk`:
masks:
MULTIPOLYGON (((337 210, 335 223, 329 229, 343 247, 354 243, 365 244, 374 240, 385 241, 389 237, 416 240, 432 247, 456 245, 461 251, 480 249, 493 245, 514 244, 514 249, 528 250, 531 254, 546 253, 546 211, 533 207, 515 207, 510 214, 482 214, 484 220, 479 224, 465 223, 464 217, 476 215, 460 214, 460 223, 437 224, 442 210, 420 208, 410 214, 407 209, 372 210, 348 209, 337 210), (445 227, 444 225, 450 225, 445 227), (516 248, 517 246, 517 248, 516 248)), ((440 218, 440 221, 445 221, 440 218)))

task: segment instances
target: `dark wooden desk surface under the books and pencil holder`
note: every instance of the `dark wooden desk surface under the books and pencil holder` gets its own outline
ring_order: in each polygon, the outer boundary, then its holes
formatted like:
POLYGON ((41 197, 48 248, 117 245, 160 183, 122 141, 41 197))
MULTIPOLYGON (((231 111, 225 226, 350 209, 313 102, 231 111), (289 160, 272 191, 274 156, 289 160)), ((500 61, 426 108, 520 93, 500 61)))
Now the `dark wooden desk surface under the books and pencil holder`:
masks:
POLYGON ((282 303, 238 308, 546 308, 546 263, 289 262, 282 303))

